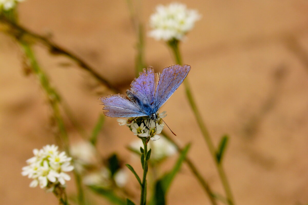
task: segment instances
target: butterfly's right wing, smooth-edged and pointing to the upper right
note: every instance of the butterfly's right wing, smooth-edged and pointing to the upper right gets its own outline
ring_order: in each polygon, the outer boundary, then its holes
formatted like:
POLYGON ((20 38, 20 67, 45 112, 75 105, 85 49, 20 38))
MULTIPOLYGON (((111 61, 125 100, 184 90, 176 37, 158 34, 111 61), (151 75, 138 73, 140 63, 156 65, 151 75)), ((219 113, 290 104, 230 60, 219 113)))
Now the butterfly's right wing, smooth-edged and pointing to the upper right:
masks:
POLYGON ((163 69, 159 76, 155 93, 156 111, 169 99, 176 89, 178 89, 189 71, 190 65, 171 65, 163 69))

